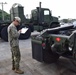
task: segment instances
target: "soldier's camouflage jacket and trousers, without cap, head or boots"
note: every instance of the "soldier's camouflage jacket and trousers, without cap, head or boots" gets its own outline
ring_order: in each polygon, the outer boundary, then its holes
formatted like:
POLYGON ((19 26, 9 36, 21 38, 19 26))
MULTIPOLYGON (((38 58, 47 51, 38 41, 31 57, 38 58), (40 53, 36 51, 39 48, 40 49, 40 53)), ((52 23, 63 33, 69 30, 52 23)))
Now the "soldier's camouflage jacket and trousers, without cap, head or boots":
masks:
POLYGON ((17 31, 16 26, 11 23, 8 26, 8 41, 10 43, 11 52, 12 52, 12 67, 19 69, 20 62, 20 49, 19 49, 19 35, 20 32, 17 31))

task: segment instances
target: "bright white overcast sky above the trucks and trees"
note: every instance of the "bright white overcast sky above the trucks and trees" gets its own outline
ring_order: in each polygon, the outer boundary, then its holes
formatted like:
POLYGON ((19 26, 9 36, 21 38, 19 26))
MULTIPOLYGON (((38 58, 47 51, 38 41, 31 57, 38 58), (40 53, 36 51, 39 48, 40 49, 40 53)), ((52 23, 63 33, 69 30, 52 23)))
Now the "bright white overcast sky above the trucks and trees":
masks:
MULTIPOLYGON (((31 14, 31 10, 39 6, 42 2, 43 8, 49 8, 53 16, 61 16, 63 18, 76 19, 76 0, 0 0, 0 2, 7 2, 4 5, 4 10, 8 13, 14 3, 19 3, 24 6, 24 14, 31 14)), ((2 9, 0 5, 0 9, 2 9)))

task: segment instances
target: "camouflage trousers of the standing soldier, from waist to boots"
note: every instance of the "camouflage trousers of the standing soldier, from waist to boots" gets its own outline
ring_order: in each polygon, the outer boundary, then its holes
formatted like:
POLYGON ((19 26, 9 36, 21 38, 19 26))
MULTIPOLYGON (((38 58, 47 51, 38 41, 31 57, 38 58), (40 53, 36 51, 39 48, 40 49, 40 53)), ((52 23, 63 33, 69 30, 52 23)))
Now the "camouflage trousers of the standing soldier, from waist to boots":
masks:
POLYGON ((19 69, 19 63, 20 63, 20 49, 19 46, 11 47, 12 52, 12 67, 15 69, 19 69))

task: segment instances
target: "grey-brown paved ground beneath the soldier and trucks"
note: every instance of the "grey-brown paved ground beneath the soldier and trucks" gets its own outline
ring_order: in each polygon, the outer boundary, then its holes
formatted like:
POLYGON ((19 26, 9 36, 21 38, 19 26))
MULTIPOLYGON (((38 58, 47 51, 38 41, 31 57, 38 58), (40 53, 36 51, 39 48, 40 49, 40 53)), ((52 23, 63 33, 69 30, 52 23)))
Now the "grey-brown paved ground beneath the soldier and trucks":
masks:
MULTIPOLYGON (((23 75, 76 75, 64 65, 68 65, 68 60, 59 59, 57 63, 45 64, 32 59, 31 39, 20 40, 20 50, 22 59, 20 62, 23 75), (67 62, 65 62, 67 61, 67 62), (62 64, 64 65, 62 65, 62 64)), ((73 66, 72 66, 73 67, 73 66)), ((11 52, 8 42, 0 40, 0 75, 18 75, 11 70, 11 52)))

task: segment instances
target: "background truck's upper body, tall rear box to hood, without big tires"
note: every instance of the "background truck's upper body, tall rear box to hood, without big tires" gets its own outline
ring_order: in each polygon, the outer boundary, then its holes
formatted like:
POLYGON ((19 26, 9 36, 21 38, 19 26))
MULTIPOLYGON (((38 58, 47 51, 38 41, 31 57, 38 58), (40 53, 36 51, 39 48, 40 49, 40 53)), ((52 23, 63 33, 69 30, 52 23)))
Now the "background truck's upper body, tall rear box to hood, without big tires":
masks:
POLYGON ((31 10, 30 19, 27 19, 24 16, 24 7, 17 3, 12 6, 10 13, 11 20, 13 20, 15 16, 19 16, 22 23, 28 26, 31 31, 42 31, 43 29, 60 26, 58 17, 52 16, 52 13, 48 8, 41 8, 41 2, 39 3, 39 7, 31 10))

